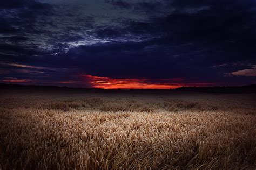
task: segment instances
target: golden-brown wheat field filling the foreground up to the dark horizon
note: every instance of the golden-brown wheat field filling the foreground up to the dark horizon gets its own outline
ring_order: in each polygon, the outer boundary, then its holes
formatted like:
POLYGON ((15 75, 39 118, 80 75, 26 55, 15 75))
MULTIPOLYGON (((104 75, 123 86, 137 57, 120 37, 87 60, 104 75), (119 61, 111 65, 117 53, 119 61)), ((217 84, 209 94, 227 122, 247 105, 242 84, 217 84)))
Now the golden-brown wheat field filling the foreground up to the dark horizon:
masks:
POLYGON ((0 169, 255 169, 254 97, 2 90, 0 169))

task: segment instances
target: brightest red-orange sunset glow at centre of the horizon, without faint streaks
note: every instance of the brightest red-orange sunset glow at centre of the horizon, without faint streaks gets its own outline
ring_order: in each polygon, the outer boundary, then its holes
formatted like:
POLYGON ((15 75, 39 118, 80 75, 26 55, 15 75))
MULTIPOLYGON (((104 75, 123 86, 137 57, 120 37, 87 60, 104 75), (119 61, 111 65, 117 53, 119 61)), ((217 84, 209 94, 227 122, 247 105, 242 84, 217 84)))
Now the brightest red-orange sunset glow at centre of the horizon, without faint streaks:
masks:
MULTIPOLYGON (((101 89, 174 89, 182 87, 179 83, 152 83, 151 79, 113 79, 109 77, 98 77, 92 75, 82 75, 93 88, 101 89)), ((182 79, 154 79, 162 81, 181 81, 182 79)))

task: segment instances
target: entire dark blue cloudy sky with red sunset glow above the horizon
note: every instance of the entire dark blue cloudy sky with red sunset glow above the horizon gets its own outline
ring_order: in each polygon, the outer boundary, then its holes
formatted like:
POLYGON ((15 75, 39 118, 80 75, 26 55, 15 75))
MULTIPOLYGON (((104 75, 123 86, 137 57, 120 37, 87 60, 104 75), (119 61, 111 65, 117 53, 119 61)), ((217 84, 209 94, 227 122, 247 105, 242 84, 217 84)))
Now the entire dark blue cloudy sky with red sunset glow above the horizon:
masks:
POLYGON ((8 0, 0 25, 0 83, 256 83, 254 0, 8 0))

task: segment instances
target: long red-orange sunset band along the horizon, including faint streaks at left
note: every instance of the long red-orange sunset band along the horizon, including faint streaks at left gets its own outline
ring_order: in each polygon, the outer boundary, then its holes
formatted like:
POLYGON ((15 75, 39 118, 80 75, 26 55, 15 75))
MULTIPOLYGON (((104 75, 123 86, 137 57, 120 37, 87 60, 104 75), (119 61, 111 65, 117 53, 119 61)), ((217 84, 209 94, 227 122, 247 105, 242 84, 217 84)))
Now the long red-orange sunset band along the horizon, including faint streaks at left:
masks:
POLYGON ((174 79, 114 79, 110 77, 99 77, 89 74, 79 75, 77 80, 64 80, 59 82, 52 82, 49 80, 39 81, 32 79, 19 79, 16 77, 4 77, 0 82, 4 83, 21 83, 21 84, 65 84, 70 87, 86 87, 86 88, 100 88, 100 89, 176 89, 186 86, 212 86, 208 82, 190 82, 183 78, 174 79))

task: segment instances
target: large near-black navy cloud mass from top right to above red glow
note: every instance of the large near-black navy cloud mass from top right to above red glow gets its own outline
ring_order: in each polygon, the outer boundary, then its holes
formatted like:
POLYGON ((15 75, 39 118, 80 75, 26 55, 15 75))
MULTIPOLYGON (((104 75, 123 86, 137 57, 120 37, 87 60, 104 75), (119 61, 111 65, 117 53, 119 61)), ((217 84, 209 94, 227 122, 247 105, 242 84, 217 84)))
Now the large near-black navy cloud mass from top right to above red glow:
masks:
MULTIPOLYGON (((168 15, 152 17, 146 22, 131 21, 124 29, 155 38, 138 43, 81 47, 85 50, 82 53, 108 56, 107 61, 104 60, 107 67, 96 63, 90 68, 91 71, 97 68, 92 74, 100 76, 146 75, 152 78, 194 77, 204 81, 224 81, 228 73, 240 68, 217 69, 213 65, 255 62, 255 5, 223 1, 221 6, 224 7, 221 7, 217 6, 219 3, 174 1, 170 7, 176 9, 168 15), (194 9, 199 7, 199 10, 194 9), (112 59, 116 53, 122 57, 112 59)), ((118 35, 118 30, 101 30, 101 33, 102 37, 109 37, 118 35)))

